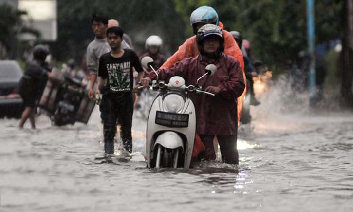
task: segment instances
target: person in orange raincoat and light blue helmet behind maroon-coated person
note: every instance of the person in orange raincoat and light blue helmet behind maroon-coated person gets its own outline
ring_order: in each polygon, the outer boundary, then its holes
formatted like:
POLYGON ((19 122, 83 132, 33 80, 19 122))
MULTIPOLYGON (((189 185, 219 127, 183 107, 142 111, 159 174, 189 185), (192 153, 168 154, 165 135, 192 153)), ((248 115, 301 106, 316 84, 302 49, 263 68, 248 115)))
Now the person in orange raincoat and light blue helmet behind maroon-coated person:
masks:
MULTIPOLYGON (((223 24, 219 21, 219 17, 215 9, 209 6, 201 6, 196 10, 194 10, 190 16, 190 24, 193 28, 195 35, 186 39, 186 41, 181 46, 179 46, 178 51, 175 52, 170 58, 168 58, 161 68, 164 69, 164 68, 171 67, 173 64, 175 64, 176 62, 184 58, 190 58, 190 57, 199 55, 200 52, 198 50, 198 46, 196 42, 196 33, 198 29, 200 29, 203 25, 208 23, 215 24, 223 30, 223 24)), ((240 50, 240 47, 238 47, 237 43, 234 41, 233 36, 226 30, 223 30, 223 38, 224 38, 224 53, 236 58, 240 62, 240 66, 242 68, 242 75, 243 75, 244 81, 246 81, 246 77, 244 74, 244 61, 243 61, 242 51, 240 50)), ((244 89, 244 93, 242 94, 242 96, 238 97, 238 105, 237 105, 238 123, 240 120, 240 114, 242 111, 242 102, 245 94, 246 94, 246 87, 244 89)))

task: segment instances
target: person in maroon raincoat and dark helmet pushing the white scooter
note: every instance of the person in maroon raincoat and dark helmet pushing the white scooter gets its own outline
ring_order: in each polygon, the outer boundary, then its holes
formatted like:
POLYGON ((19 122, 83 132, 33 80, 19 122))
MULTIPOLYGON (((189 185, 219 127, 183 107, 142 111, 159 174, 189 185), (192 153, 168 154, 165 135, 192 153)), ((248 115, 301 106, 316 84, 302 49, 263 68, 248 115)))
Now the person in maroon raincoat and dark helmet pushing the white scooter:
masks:
MULTIPOLYGON (((168 68, 160 68, 159 80, 169 81, 173 76, 183 77, 186 84, 194 84, 197 78, 204 75, 205 67, 214 64, 217 72, 200 80, 205 91, 216 96, 189 93, 196 110, 196 134, 204 143, 204 157, 216 159, 213 139, 217 136, 224 163, 238 164, 236 111, 237 97, 245 89, 242 69, 237 59, 224 54, 224 37, 222 29, 214 24, 202 26, 197 33, 197 48, 200 55, 185 58, 168 68)), ((143 85, 156 79, 151 72, 141 80, 143 85)))

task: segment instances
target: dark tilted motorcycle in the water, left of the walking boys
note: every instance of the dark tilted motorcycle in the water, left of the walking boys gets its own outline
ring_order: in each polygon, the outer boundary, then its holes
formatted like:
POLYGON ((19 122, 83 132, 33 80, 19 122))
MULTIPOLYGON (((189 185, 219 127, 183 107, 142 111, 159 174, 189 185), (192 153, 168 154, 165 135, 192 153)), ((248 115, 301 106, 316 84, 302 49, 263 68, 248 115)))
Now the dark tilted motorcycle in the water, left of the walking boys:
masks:
POLYGON ((63 126, 82 122, 87 124, 95 105, 82 87, 82 78, 60 72, 48 80, 39 107, 44 109, 52 125, 63 126))

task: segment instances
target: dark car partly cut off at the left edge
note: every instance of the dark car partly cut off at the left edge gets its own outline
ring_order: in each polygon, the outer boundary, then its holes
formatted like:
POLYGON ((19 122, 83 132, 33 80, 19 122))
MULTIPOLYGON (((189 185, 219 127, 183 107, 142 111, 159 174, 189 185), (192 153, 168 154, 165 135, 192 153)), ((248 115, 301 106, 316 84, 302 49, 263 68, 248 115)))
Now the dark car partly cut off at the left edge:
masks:
POLYGON ((17 92, 23 71, 14 60, 0 60, 0 118, 20 118, 24 109, 17 92))

